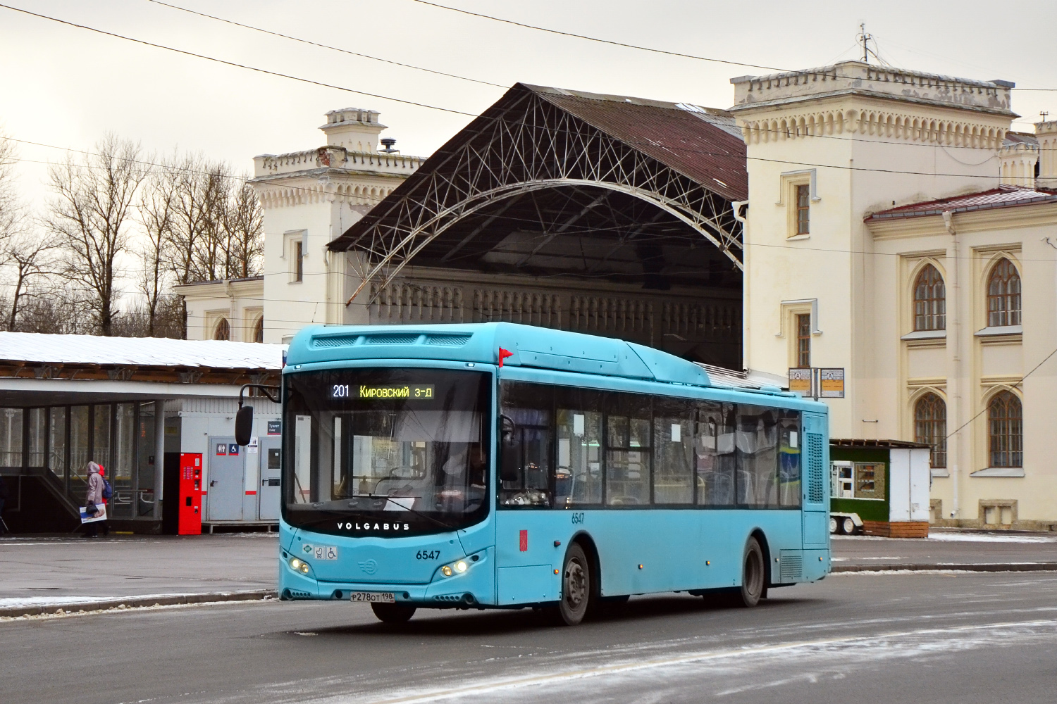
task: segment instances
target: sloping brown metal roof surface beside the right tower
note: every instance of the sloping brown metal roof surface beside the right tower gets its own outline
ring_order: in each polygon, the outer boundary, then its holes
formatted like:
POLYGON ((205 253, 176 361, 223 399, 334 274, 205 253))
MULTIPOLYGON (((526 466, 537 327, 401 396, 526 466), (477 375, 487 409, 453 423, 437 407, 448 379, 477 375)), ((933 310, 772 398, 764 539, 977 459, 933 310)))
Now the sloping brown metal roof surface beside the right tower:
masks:
POLYGON ((725 110, 543 85, 524 88, 726 198, 748 198, 745 142, 725 110))

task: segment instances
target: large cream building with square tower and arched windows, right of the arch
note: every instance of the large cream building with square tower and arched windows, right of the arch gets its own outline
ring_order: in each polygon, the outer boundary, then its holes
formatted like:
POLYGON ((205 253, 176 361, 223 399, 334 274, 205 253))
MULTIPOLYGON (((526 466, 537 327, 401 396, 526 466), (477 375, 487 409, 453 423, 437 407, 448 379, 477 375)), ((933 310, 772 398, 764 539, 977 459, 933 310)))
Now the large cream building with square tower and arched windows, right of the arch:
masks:
POLYGON ((1057 122, 857 61, 731 82, 746 366, 845 368, 831 434, 933 445, 934 521, 1057 526, 1057 122))

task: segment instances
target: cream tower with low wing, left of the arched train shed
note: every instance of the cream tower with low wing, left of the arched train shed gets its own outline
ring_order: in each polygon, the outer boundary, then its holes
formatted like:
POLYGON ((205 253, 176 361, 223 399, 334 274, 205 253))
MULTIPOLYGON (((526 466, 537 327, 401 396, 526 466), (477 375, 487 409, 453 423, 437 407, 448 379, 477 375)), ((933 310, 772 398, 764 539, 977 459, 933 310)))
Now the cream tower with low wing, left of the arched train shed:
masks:
POLYGON ((254 157, 251 182, 264 214, 264 274, 178 286, 187 303, 187 337, 281 343, 313 323, 367 322, 364 306, 347 306, 361 275, 350 255, 327 244, 392 192, 422 164, 379 134, 372 110, 327 113, 327 145, 254 157), (225 337, 226 336, 226 337, 225 337))

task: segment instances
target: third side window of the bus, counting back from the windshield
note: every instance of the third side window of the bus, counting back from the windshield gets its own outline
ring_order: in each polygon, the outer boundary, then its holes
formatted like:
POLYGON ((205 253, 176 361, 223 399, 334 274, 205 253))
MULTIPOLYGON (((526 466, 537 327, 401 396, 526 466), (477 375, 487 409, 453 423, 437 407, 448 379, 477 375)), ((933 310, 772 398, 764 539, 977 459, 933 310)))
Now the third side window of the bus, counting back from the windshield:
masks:
POLYGON ((609 394, 606 416, 606 503, 651 502, 653 438, 651 397, 609 394))

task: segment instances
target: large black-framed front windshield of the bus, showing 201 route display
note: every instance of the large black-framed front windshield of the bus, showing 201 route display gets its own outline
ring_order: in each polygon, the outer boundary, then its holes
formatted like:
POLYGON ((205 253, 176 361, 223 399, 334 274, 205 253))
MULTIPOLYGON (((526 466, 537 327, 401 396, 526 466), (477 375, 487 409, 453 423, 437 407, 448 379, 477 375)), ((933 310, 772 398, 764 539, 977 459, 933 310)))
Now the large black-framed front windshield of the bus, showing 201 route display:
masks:
POLYGON ((486 374, 349 368, 285 379, 292 525, 352 534, 392 534, 382 526, 393 526, 407 535, 462 528, 487 513, 486 374))

